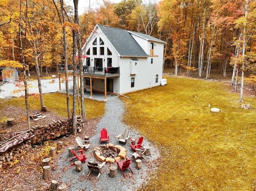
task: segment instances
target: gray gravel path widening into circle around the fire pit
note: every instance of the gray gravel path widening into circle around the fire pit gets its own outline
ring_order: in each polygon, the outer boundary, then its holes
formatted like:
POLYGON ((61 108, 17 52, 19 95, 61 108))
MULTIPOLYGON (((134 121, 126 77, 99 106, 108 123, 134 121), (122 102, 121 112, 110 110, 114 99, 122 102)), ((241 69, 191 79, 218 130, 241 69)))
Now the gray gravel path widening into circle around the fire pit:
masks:
MULTIPOLYGON (((89 97, 89 93, 85 93, 85 98, 89 97)), ((104 95, 99 93, 93 93, 93 99, 103 101, 104 95)), ((90 137, 90 147, 86 151, 86 164, 82 164, 82 171, 76 172, 75 167, 69 168, 71 162, 69 162, 70 157, 68 157, 68 150, 65 151, 63 157, 58 162, 58 169, 55 173, 61 174, 61 178, 58 179, 59 182, 65 183, 69 187, 69 191, 92 191, 93 188, 97 188, 98 191, 134 191, 143 183, 149 179, 151 173, 156 170, 156 165, 154 160, 159 156, 158 150, 144 138, 143 146, 150 147, 151 156, 146 156, 146 160, 142 160, 142 168, 137 170, 135 168, 135 162, 132 162, 131 168, 134 174, 131 173, 129 169, 125 170, 126 177, 122 175, 121 171, 117 171, 117 176, 114 178, 109 177, 109 168, 116 163, 104 165, 104 173, 97 178, 97 172, 92 172, 92 174, 87 177, 89 169, 87 168, 87 162, 95 160, 93 156, 94 147, 101 145, 99 134, 102 128, 106 128, 107 132, 110 134, 110 143, 118 145, 118 140, 116 136, 122 133, 123 129, 130 129, 122 123, 122 114, 124 112, 122 101, 119 100, 118 96, 107 95, 107 102, 105 104, 106 113, 97 124, 95 136, 90 137), (67 168, 68 167, 68 168, 67 168)), ((131 130, 131 138, 139 138, 140 134, 131 130)), ((82 137, 81 137, 82 138, 82 137)), ((123 146, 123 145, 122 145, 123 146)), ((131 158, 131 153, 133 150, 130 148, 130 142, 123 146, 127 151, 127 155, 131 158)), ((77 147, 76 147, 77 149, 77 147)), ((100 162, 99 162, 100 163, 100 162)))

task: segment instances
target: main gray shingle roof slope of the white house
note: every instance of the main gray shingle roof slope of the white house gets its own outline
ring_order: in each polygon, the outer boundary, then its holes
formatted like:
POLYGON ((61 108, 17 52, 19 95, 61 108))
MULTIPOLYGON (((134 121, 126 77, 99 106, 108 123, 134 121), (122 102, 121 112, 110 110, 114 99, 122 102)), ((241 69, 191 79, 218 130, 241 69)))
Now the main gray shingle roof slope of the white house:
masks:
MULTIPOLYGON (((120 56, 148 57, 127 30, 97 24, 120 56)), ((140 34, 140 33, 139 33, 140 34)))

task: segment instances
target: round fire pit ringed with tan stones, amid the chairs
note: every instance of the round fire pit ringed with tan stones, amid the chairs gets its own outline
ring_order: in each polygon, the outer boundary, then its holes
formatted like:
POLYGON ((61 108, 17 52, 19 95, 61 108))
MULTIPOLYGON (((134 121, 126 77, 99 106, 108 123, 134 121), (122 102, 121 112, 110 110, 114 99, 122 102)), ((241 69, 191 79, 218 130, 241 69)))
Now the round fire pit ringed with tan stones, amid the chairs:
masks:
POLYGON ((101 145, 94 148, 94 156, 101 162, 114 163, 117 160, 125 159, 126 148, 121 145, 113 145, 108 143, 107 145, 101 145))

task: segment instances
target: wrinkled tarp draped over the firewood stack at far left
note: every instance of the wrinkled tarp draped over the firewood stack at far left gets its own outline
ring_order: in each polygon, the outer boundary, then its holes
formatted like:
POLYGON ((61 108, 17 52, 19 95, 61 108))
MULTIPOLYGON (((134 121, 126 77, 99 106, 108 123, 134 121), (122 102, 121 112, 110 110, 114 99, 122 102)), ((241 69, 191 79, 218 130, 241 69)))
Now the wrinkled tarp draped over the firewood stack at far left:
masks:
POLYGON ((11 137, 8 141, 3 143, 3 145, 0 145, 0 153, 4 153, 10 148, 13 148, 16 145, 19 145, 20 143, 26 141, 27 139, 30 139, 33 137, 34 134, 29 133, 22 133, 22 132, 13 132, 10 134, 9 137, 11 137))

